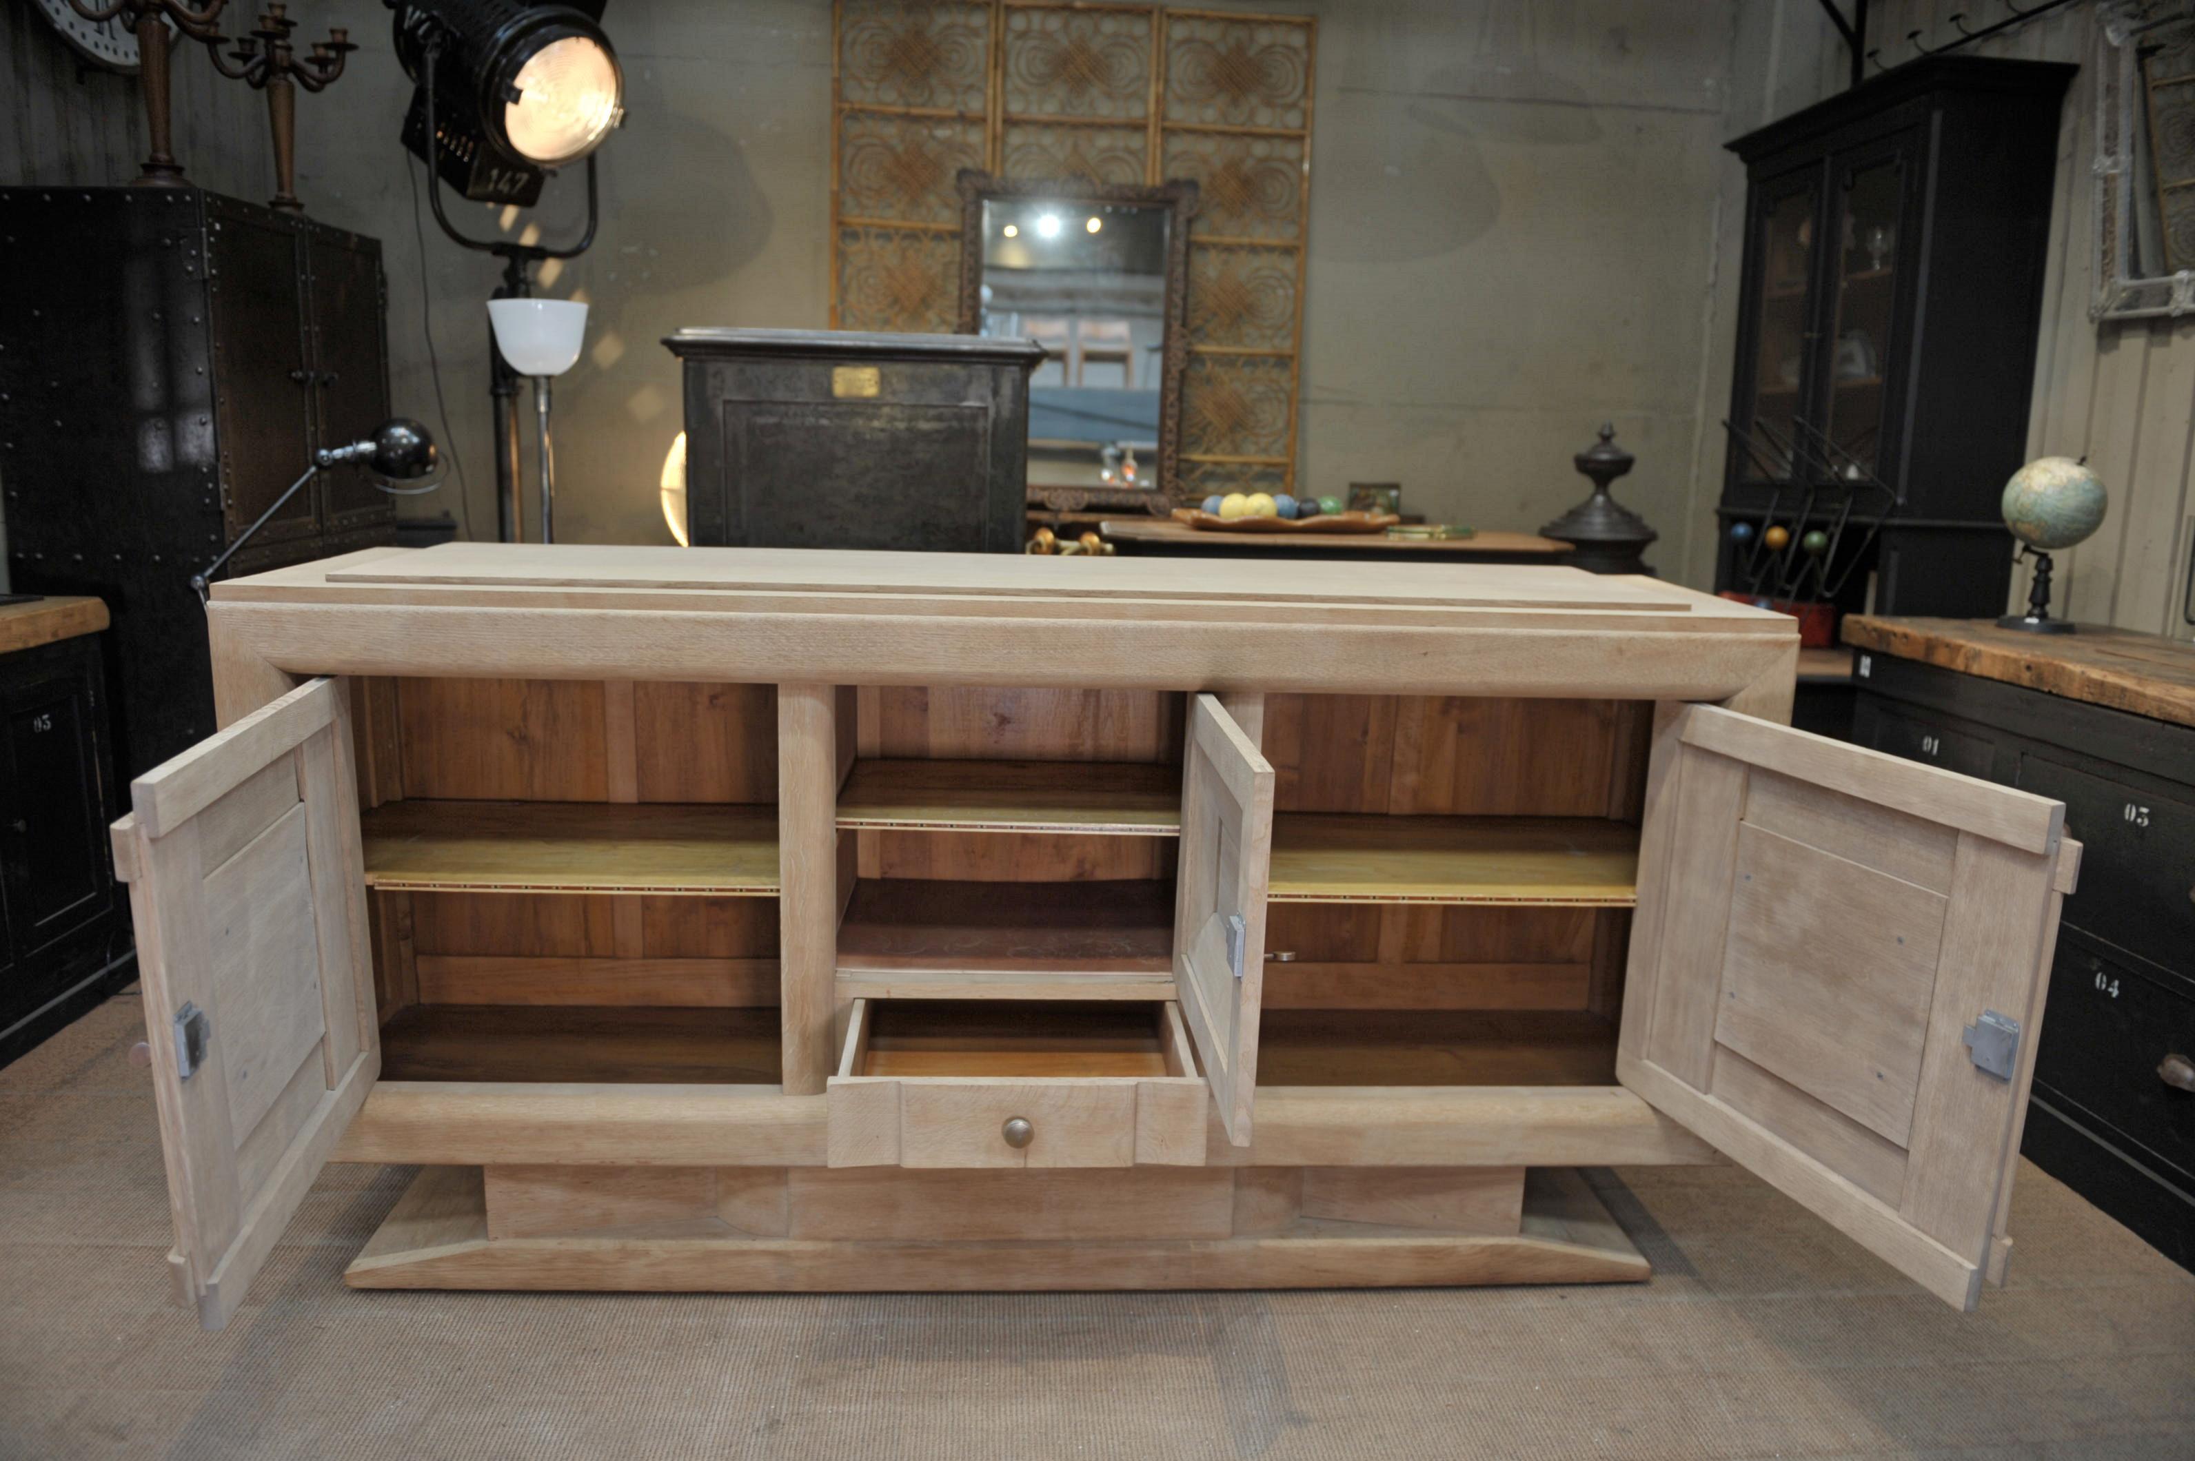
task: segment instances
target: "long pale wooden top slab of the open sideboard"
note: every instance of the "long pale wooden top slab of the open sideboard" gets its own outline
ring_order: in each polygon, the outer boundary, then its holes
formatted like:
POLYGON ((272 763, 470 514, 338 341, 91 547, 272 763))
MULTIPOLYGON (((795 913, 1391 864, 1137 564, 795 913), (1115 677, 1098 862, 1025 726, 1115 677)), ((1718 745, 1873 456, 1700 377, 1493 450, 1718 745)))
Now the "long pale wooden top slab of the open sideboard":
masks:
POLYGON ((441 544, 213 586, 285 673, 1723 700, 1796 621, 1526 564, 441 544))

